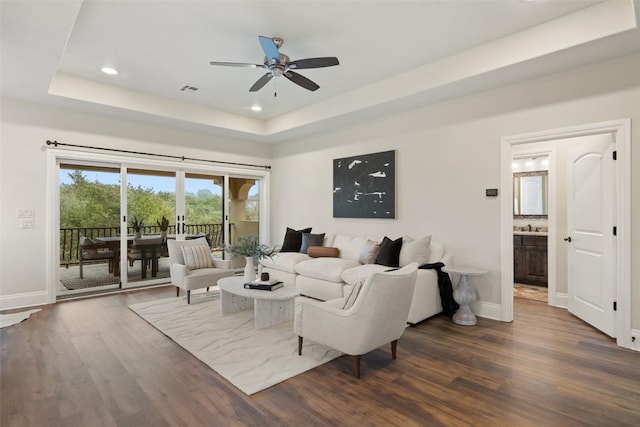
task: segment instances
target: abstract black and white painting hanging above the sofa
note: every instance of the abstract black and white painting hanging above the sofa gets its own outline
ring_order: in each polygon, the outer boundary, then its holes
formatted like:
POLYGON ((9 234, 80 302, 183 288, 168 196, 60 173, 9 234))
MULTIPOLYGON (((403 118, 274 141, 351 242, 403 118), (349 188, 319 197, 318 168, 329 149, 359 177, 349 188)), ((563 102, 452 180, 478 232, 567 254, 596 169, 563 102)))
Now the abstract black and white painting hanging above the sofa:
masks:
POLYGON ((333 160, 334 218, 396 217, 396 152, 333 160))

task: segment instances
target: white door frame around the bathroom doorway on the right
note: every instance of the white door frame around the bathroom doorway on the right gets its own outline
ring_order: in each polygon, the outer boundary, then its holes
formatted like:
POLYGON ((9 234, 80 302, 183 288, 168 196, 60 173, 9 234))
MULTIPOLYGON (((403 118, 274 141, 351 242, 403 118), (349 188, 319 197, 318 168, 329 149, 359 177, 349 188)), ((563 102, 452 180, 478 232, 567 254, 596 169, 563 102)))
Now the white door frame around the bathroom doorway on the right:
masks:
MULTIPOLYGON (((505 136, 500 145, 500 320, 513 321, 513 185, 511 162, 520 144, 551 142, 579 136, 612 134, 616 144, 616 341, 633 348, 631 341, 631 119, 590 123, 567 128, 505 136)), ((543 151, 543 150, 542 150, 543 151)), ((550 160, 550 169, 552 166, 550 160)), ((550 182, 551 184, 551 182, 550 182)), ((553 224, 550 226, 550 238, 553 224)), ((555 244, 554 244, 555 246, 555 244)), ((555 272, 555 268, 553 270, 555 272)), ((556 278, 552 279, 554 282, 556 278)))

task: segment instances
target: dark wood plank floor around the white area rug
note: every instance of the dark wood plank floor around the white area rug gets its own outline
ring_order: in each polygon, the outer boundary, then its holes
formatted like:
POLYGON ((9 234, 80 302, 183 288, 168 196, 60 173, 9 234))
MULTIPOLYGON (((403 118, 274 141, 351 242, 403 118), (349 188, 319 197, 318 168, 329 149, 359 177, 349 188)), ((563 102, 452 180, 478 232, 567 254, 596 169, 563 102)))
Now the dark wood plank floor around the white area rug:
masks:
MULTIPOLYGON (((131 312, 175 288, 58 303, 2 329, 9 426, 639 426, 640 353, 566 310, 516 299, 513 323, 436 317, 369 353, 246 396, 131 312)), ((256 355, 259 357, 259 355, 256 355)))

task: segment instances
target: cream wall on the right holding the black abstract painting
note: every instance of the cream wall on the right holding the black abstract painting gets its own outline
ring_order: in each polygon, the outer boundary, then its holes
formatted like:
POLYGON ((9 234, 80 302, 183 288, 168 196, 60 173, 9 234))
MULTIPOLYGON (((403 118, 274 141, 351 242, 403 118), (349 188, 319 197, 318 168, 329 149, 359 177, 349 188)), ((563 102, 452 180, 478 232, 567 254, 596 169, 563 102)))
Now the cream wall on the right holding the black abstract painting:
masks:
MULTIPOLYGON (((456 264, 488 269, 479 298, 500 301, 500 208, 484 196, 499 187, 500 138, 607 120, 632 119, 640 138, 640 55, 383 117, 349 129, 279 144, 272 173, 272 240, 285 227, 372 237, 433 234, 456 264), (397 219, 332 218, 332 160, 397 150, 397 219)), ((632 148, 632 194, 640 152, 632 148)), ((640 327, 640 199, 633 197, 632 327, 640 327)), ((475 278, 474 278, 475 279, 475 278)))

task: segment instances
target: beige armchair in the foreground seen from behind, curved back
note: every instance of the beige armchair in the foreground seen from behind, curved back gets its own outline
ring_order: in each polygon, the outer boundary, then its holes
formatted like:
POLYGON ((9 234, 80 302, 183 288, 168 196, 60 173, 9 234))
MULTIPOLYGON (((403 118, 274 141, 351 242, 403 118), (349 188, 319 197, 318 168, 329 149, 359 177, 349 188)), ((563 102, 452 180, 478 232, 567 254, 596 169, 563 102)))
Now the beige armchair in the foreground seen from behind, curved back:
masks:
POLYGON ((358 284, 354 286, 357 296, 325 302, 298 298, 293 326, 298 354, 307 338, 354 356, 357 378, 360 356, 365 353, 391 343, 395 360, 398 339, 407 326, 417 269, 418 264, 412 263, 395 271, 371 273, 359 292, 358 284))

